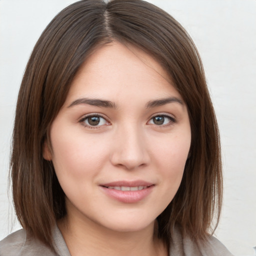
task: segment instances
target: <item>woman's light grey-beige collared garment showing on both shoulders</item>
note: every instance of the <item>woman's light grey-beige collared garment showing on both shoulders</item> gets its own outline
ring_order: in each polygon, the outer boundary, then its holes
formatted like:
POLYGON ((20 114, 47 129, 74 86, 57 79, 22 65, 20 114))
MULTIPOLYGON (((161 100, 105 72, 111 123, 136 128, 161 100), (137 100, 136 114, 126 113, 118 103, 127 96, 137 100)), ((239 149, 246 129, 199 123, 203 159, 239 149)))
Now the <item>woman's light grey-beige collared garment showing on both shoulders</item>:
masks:
MULTIPOLYGON (((57 254, 40 241, 27 239, 24 229, 20 229, 0 241, 0 256, 71 256, 57 226, 54 227, 52 235, 57 254)), ((182 237, 178 229, 175 229, 169 256, 232 256, 232 254, 213 236, 204 243, 196 244, 189 237, 182 237)))

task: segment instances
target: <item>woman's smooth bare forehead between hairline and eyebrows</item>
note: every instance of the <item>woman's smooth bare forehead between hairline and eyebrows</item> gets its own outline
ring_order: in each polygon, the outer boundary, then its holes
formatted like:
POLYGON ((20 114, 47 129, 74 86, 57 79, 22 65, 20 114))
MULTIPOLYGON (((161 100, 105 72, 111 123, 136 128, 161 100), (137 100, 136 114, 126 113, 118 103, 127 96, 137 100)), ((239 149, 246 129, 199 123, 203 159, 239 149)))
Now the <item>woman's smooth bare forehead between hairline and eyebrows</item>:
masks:
MULTIPOLYGON (((147 98, 179 96, 167 72, 133 45, 112 42, 96 48, 75 75, 67 101, 77 97, 147 98)), ((68 103, 67 102, 67 103, 68 103)))

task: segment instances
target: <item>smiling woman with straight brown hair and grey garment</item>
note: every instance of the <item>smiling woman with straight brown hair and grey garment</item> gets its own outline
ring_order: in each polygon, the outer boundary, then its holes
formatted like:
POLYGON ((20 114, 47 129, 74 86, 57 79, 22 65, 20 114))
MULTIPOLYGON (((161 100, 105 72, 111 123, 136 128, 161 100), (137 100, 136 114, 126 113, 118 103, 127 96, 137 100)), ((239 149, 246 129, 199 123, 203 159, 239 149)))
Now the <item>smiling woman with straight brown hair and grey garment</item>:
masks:
POLYGON ((202 64, 152 4, 82 0, 49 23, 12 147, 23 229, 0 255, 231 255, 210 236, 222 180, 202 64))

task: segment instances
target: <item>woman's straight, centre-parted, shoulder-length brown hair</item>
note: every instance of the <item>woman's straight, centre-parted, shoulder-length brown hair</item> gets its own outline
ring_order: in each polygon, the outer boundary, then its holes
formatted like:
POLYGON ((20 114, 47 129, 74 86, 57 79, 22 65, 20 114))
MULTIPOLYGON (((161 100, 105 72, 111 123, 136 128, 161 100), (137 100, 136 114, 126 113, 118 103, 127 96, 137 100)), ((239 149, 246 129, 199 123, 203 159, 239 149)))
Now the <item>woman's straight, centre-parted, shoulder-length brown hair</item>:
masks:
POLYGON ((222 197, 220 145, 203 67, 189 35, 168 13, 142 0, 82 0, 58 13, 42 32, 21 82, 12 141, 11 178, 19 222, 52 248, 51 228, 63 217, 65 195, 43 159, 49 127, 88 54, 110 41, 131 43, 154 56, 188 109, 191 146, 181 184, 157 217, 166 244, 174 224, 183 234, 207 237, 222 197))

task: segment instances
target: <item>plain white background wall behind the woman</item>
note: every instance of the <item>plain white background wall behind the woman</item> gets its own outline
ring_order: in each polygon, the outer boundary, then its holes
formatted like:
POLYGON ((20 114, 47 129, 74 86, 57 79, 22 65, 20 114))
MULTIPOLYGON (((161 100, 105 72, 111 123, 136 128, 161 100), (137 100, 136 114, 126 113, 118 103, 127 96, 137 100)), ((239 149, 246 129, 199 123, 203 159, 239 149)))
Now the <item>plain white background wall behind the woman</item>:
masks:
MULTIPOLYGON (((44 27, 72 2, 0 0, 0 239, 19 228, 11 199, 8 200, 7 175, 14 108, 23 70, 44 27)), ((234 255, 254 255, 256 0, 150 2, 168 11, 187 29, 204 64, 223 155, 224 202, 215 235, 234 255)))

